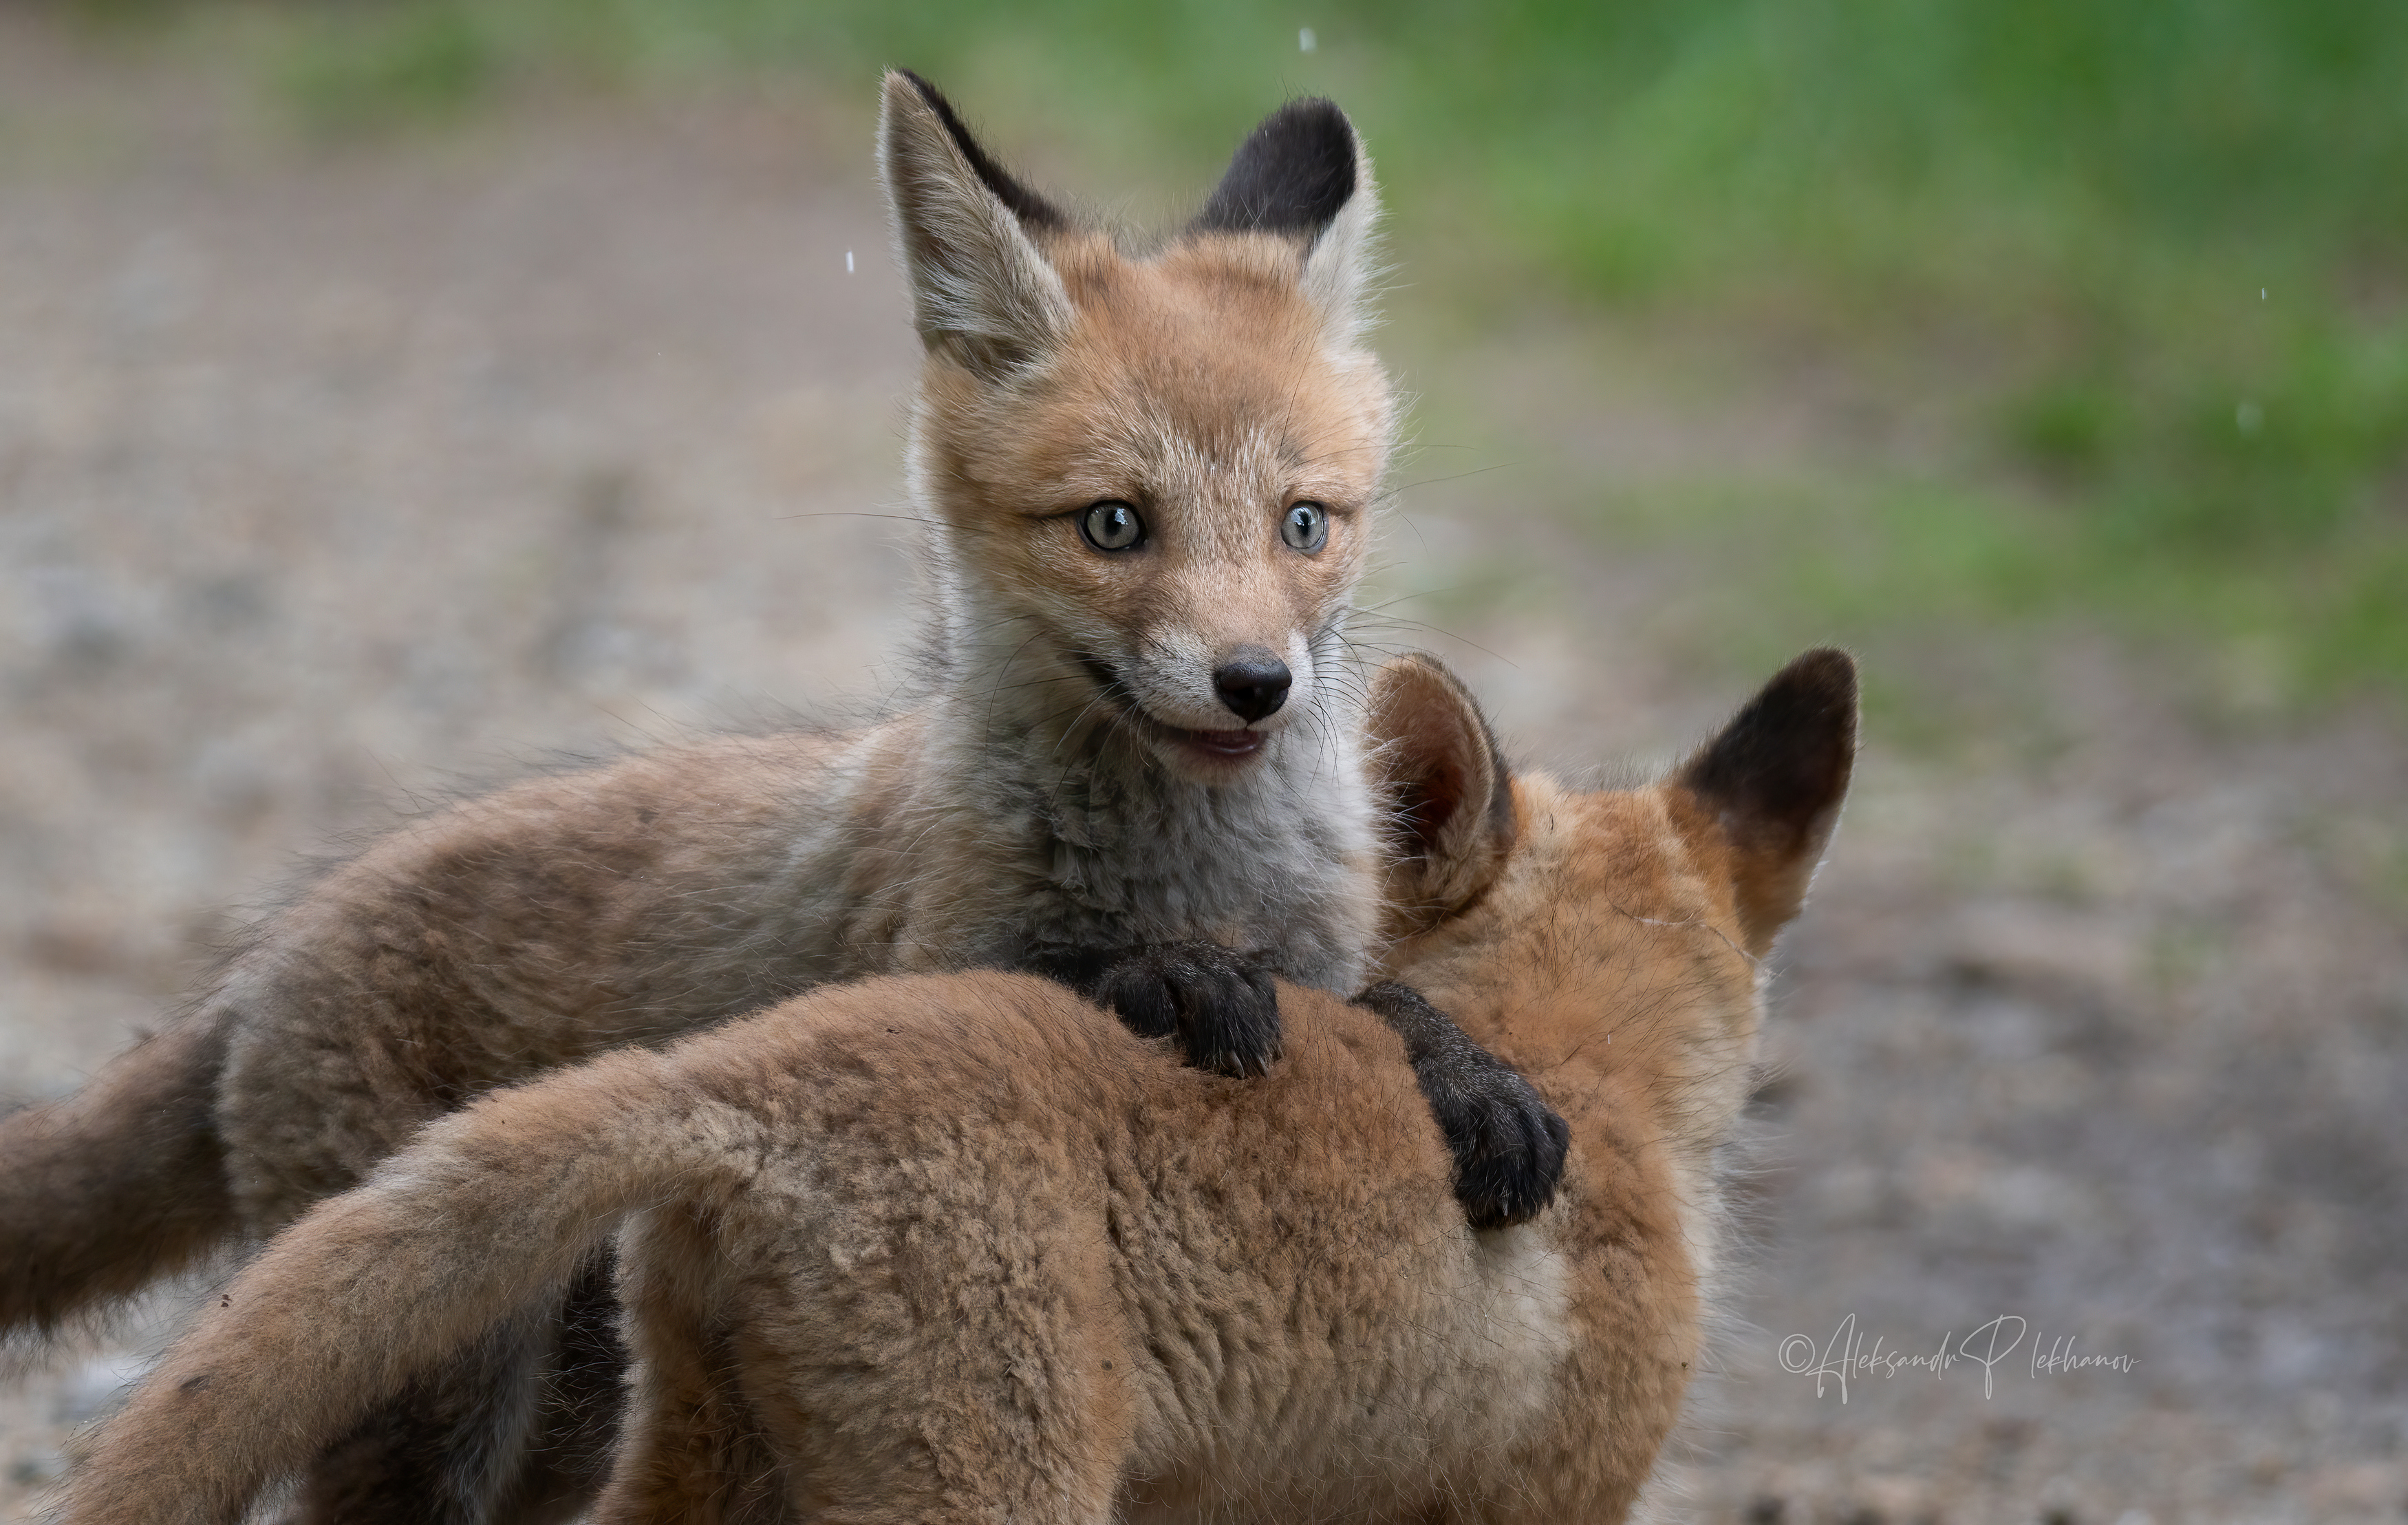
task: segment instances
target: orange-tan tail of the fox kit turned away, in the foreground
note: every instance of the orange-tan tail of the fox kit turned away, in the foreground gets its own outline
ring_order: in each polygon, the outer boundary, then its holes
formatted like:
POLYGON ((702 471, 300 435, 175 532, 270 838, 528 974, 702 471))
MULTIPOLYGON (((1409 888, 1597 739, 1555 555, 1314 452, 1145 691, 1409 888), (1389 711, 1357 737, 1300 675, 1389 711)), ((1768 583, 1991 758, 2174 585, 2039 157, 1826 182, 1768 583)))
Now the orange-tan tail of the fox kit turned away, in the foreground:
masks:
POLYGON ((636 1209, 708 1193, 742 1123, 672 1103, 657 1055, 429 1125, 320 1202, 209 1306, 92 1443, 63 1520, 234 1523, 371 1405, 556 1296, 636 1209), (713 1132, 720 1144, 698 1144, 713 1132))

